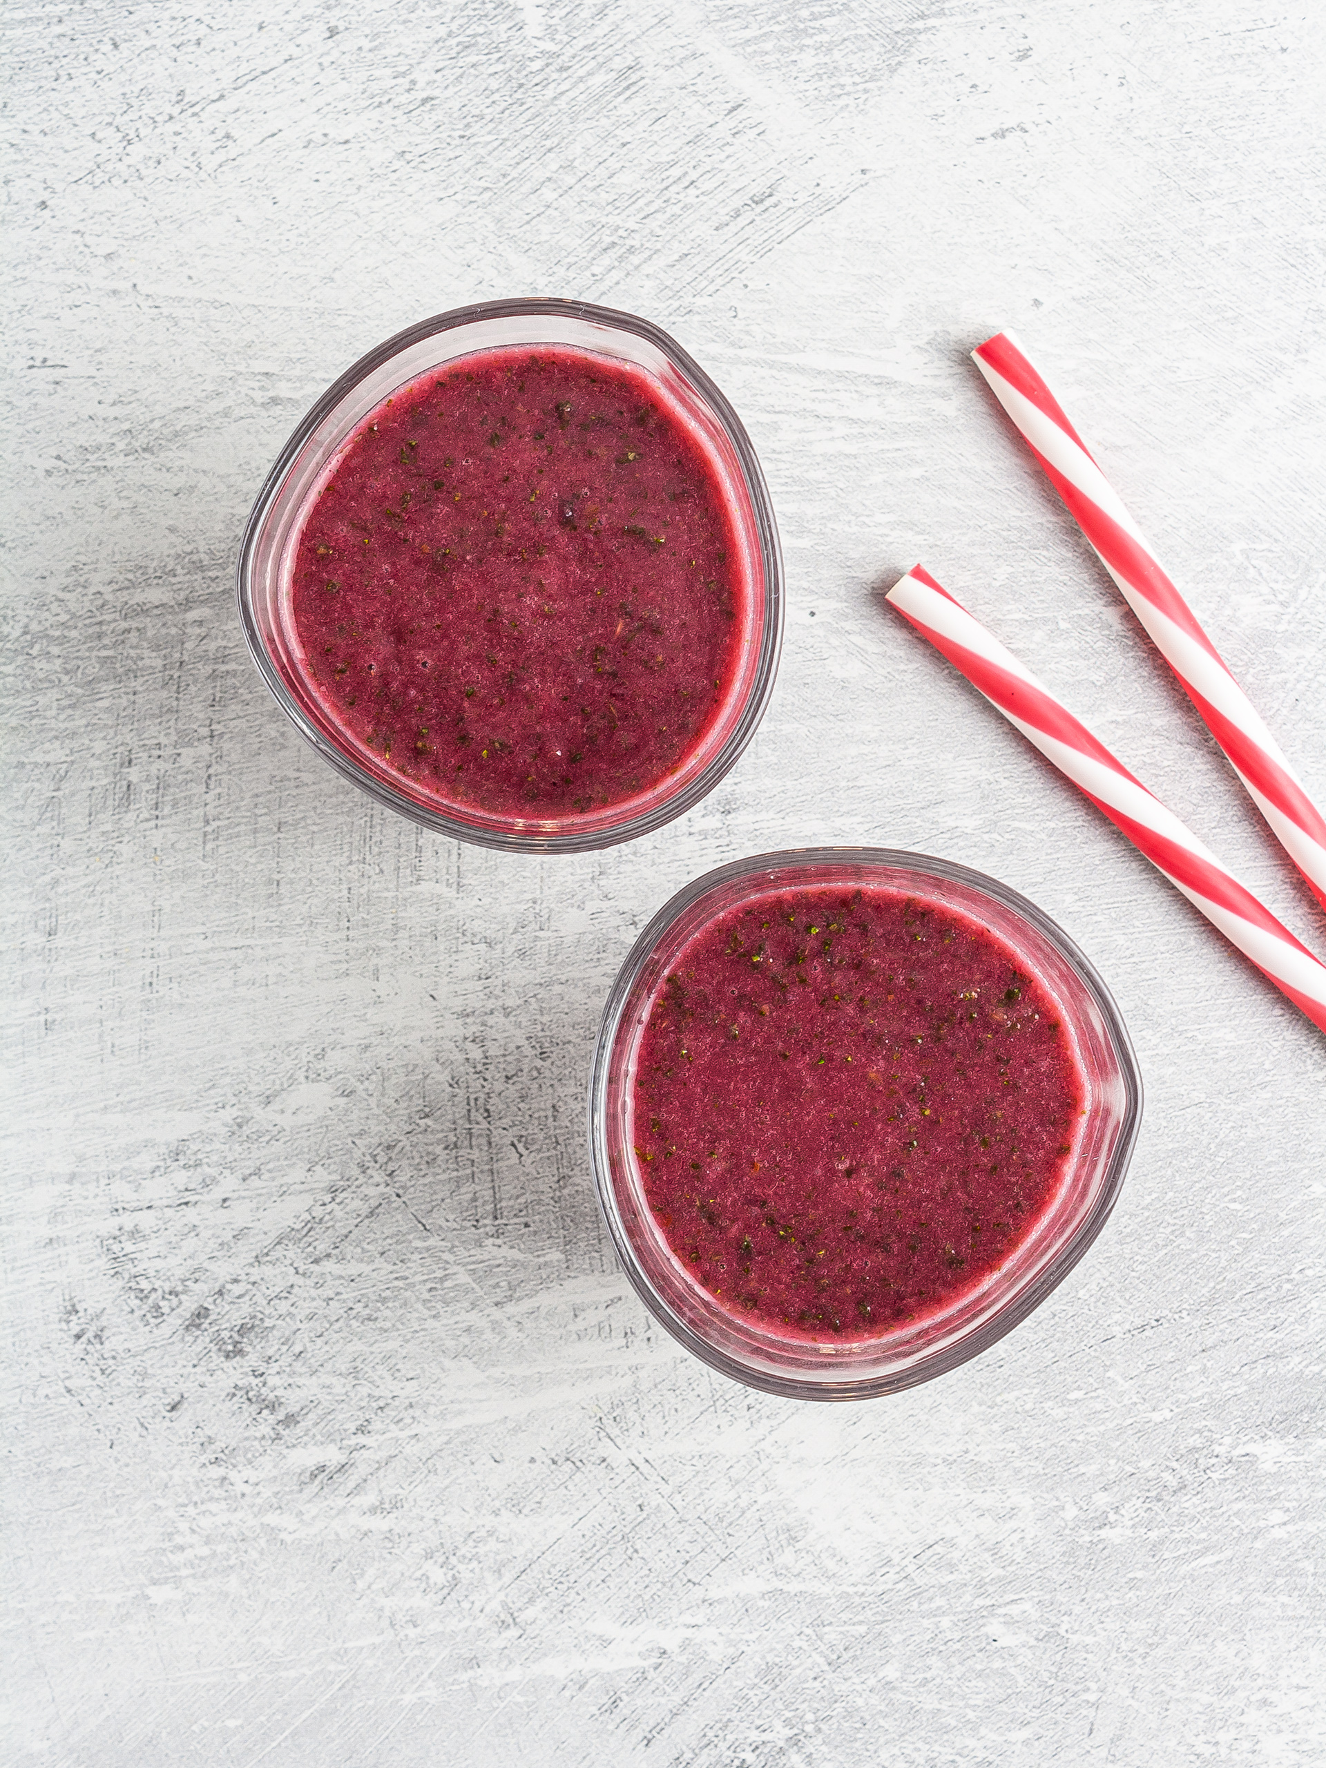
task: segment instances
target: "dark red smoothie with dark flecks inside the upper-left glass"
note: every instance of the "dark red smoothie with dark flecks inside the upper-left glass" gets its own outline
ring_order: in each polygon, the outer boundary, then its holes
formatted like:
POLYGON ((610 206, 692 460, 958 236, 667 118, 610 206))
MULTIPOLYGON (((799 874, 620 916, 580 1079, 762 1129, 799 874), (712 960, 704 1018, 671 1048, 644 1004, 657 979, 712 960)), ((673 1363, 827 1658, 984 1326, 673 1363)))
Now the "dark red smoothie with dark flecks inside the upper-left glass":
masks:
POLYGON ((461 357, 373 410, 304 518, 290 594, 347 737, 415 797, 537 820, 684 766, 751 599, 682 408, 555 345, 461 357))

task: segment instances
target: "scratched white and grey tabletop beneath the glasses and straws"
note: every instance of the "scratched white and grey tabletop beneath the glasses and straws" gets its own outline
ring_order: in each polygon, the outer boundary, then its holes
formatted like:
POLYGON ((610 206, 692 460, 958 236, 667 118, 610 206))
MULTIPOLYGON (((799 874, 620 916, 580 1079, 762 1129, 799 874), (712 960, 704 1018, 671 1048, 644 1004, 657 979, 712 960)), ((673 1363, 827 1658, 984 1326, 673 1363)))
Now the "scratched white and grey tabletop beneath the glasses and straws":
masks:
POLYGON ((1326 1759, 1326 1041, 879 606, 918 557, 1326 946, 965 352, 1017 327, 1326 799, 1326 14, 1245 0, 7 9, 4 1759, 1326 1759), (649 315, 789 568, 693 815, 507 859, 285 725, 232 573, 354 357, 649 315), (697 872, 994 872, 1147 1084, 1089 1259, 854 1409, 613 1266, 601 1001, 697 872))

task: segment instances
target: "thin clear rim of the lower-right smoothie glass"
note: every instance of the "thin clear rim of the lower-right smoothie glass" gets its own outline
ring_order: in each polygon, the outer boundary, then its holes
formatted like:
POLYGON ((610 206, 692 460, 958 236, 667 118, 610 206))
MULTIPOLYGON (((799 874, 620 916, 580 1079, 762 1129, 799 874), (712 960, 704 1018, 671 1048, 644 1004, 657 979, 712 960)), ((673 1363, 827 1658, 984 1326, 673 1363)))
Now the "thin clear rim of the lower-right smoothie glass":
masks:
MULTIPOLYGON (((778 879, 774 882, 771 877, 773 888, 780 888, 787 882, 790 880, 778 879)), ((599 1033, 594 1043, 594 1057, 589 1077, 589 1160, 591 1170, 594 1172, 599 1213, 631 1287, 654 1319, 688 1351, 691 1351, 693 1356, 700 1358, 702 1363, 707 1363, 711 1368, 732 1377, 734 1381, 741 1381, 746 1386, 758 1388, 766 1393, 776 1393, 785 1398, 857 1400, 873 1398, 884 1393, 900 1393, 905 1388, 918 1386, 923 1381, 930 1381, 935 1376, 944 1376, 949 1370, 958 1368, 971 1358, 988 1351, 990 1345, 997 1344, 997 1340, 1010 1333, 1015 1326, 1020 1326, 1022 1321, 1025 1321, 1027 1315, 1033 1314, 1041 1301, 1045 1301, 1047 1296, 1059 1287, 1059 1284, 1096 1241, 1114 1209, 1114 1204, 1117 1202, 1140 1132, 1142 1105, 1144 1087, 1137 1052, 1133 1050, 1132 1038, 1128 1036, 1123 1013, 1119 1011, 1105 979, 1091 958, 1086 956, 1086 953, 1057 925, 1057 921, 1045 914, 1043 909, 1020 891, 1001 882, 999 879, 990 877, 988 873, 976 872, 971 866, 958 865, 951 859, 941 859, 932 854, 911 852, 907 849, 780 849, 776 852, 753 854, 746 859, 734 859, 728 865, 705 872, 702 877, 691 879, 690 884, 684 884, 663 903, 631 946, 631 951, 621 965, 608 992, 603 1017, 599 1020, 599 1033), (1011 911, 1015 916, 1024 919, 1059 953, 1100 1010, 1105 1033, 1117 1063, 1117 1075, 1124 1096, 1119 1132, 1114 1147, 1110 1149, 1100 1190, 1091 1200, 1082 1220, 1068 1234, 1066 1241, 1052 1254, 1047 1264, 1036 1271, 1024 1284, 1024 1287, 1013 1291, 994 1314, 990 1314, 985 1321, 979 1321, 962 1337, 939 1345, 932 1353, 923 1353, 914 1361, 898 1368, 873 1372, 845 1370, 840 1381, 826 1377, 799 1377, 790 1372, 783 1374, 748 1363, 739 1354, 713 1344, 704 1337, 704 1333, 697 1331, 686 1319, 682 1319, 682 1315, 670 1305, 668 1298, 661 1294, 658 1285, 644 1269, 635 1243, 628 1232, 612 1177, 608 1137, 608 1080, 622 1015, 642 971, 663 942, 668 930, 691 907, 695 907, 695 903, 702 902, 709 895, 716 895, 728 882, 755 879, 758 873, 773 875, 780 870, 799 872, 812 866, 888 866, 898 872, 909 872, 919 879, 934 877, 949 884, 964 886, 979 895, 987 895, 1006 911, 1011 911)), ((888 1335, 882 1335, 877 1342, 884 1342, 884 1337, 888 1335)), ((872 1340, 865 1342, 868 1344, 872 1340)))

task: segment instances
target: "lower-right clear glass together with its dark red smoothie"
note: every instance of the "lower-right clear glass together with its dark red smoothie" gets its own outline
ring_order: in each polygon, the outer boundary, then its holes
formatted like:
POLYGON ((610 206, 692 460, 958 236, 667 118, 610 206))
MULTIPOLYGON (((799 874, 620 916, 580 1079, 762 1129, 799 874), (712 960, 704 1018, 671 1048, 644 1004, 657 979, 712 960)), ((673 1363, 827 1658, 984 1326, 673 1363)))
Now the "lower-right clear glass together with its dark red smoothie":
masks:
POLYGON ((1008 1331, 1105 1222, 1140 1121, 1109 990, 1013 891, 882 850, 709 873, 596 1052, 626 1269, 725 1374, 859 1398, 1008 1331))

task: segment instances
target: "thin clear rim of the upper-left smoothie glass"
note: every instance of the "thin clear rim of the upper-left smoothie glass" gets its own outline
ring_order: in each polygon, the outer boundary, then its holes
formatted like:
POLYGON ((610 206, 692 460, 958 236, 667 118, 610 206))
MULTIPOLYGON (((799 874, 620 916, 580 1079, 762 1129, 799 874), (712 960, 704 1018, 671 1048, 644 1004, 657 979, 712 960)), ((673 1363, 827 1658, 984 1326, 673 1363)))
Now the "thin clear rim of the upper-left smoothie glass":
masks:
MULTIPOLYGON (((518 339, 514 339, 514 343, 518 343, 518 339)), ((490 347, 479 345, 479 350, 483 348, 490 347)), ((415 370, 415 373, 426 373, 426 370, 415 370)), ((635 313, 624 313, 617 308, 599 308, 589 301, 564 301, 552 295, 476 301, 463 308, 451 308, 446 313, 437 313, 431 318, 419 320, 414 325, 407 325, 394 336, 385 338, 380 345, 375 345, 361 355, 359 361, 354 362, 343 375, 339 375, 299 421, 267 474, 258 497, 255 499, 239 550, 235 599, 239 603, 244 638, 258 674, 267 682, 267 688, 281 711, 293 723, 295 730, 299 730, 304 741, 309 743, 318 755, 331 762, 331 766, 345 780, 357 785, 377 803, 408 817, 412 822, 417 822, 426 829, 433 829, 440 834, 451 834, 456 840, 469 842, 477 847, 527 854, 582 854, 596 852, 605 847, 615 847, 621 842, 629 842, 640 834, 649 834, 654 829, 663 827, 667 822, 672 822, 675 817, 693 810, 704 797, 707 797, 707 794, 713 792, 713 789, 737 764, 751 737, 758 730, 760 720, 769 705, 774 677, 778 674, 785 615, 783 553, 778 539, 773 499, 755 454, 755 447, 751 446, 746 428, 737 417, 734 407, 728 403, 727 396, 700 368, 700 364, 668 332, 665 332, 663 327, 654 325, 652 320, 644 320, 635 313), (734 725, 723 743, 675 792, 663 794, 633 817, 624 817, 615 822, 599 822, 594 826, 587 826, 580 820, 580 826, 571 826, 564 831, 550 831, 546 827, 539 829, 532 826, 504 827, 502 819, 495 819, 492 824, 472 822, 451 808, 444 808, 440 804, 433 808, 421 803, 407 792, 396 790, 384 778, 370 773, 348 750, 336 744, 327 732, 320 730, 318 725, 308 716, 304 707, 290 691, 281 670, 276 667, 255 613, 255 553, 258 539, 292 469, 299 461, 304 447, 313 438, 318 426, 345 398, 354 392, 362 380, 389 364, 392 357, 412 350, 415 345, 426 343, 430 338, 458 331, 465 325, 488 320, 520 318, 578 320, 587 325, 603 327, 605 331, 626 332, 644 339, 647 345, 652 345, 672 362, 675 370, 679 370, 691 391, 698 394, 702 403, 709 408, 711 415, 732 446, 746 486, 746 495, 750 499, 750 514, 755 527, 760 566, 760 583, 757 585, 755 601, 758 606, 762 594, 762 626, 757 656, 751 667, 750 691, 746 693, 746 700, 741 704, 734 725)), ((608 806, 605 815, 612 815, 612 806, 608 806)), ((509 820, 520 822, 520 819, 509 820)))

